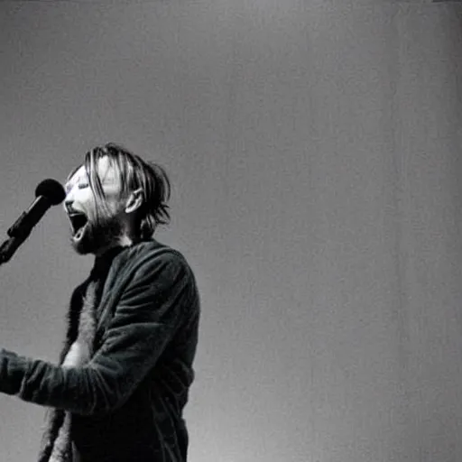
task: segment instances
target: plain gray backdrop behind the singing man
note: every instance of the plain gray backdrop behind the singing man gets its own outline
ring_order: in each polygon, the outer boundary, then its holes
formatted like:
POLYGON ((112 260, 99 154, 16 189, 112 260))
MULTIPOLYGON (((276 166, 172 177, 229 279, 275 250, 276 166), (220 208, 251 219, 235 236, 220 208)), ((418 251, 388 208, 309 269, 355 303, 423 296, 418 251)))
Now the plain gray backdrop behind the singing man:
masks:
MULTIPOLYGON (((4 236, 97 143, 171 172, 190 462, 462 460, 461 8, 0 3, 4 236)), ((0 269, 1 347, 57 359, 92 264, 68 228, 51 209, 0 269)), ((34 460, 43 413, 0 396, 0 460, 34 460)))

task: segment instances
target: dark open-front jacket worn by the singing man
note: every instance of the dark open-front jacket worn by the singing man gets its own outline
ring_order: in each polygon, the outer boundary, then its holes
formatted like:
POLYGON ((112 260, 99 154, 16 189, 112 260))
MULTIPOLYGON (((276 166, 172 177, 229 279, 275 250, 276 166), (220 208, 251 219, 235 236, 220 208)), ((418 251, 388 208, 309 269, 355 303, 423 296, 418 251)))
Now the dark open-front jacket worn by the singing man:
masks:
MULTIPOLYGON (((60 364, 77 336, 83 285, 70 300, 60 364)), ((71 412, 81 462, 186 461, 182 410, 199 326, 189 264, 154 240, 122 249, 109 265, 96 313, 95 354, 87 365, 64 368, 0 352, 0 392, 54 409, 41 462, 49 460, 64 411, 71 412)))

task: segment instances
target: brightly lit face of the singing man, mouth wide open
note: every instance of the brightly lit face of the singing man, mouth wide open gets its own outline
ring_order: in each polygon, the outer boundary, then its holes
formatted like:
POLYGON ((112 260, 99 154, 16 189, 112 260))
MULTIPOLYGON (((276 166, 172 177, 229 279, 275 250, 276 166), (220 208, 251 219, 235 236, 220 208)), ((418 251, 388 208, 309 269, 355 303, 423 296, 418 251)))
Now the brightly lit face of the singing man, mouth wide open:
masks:
POLYGON ((124 241, 125 215, 120 179, 107 157, 99 160, 97 173, 105 192, 106 208, 90 188, 85 165, 65 186, 64 207, 71 222, 70 243, 78 254, 100 254, 124 241))

